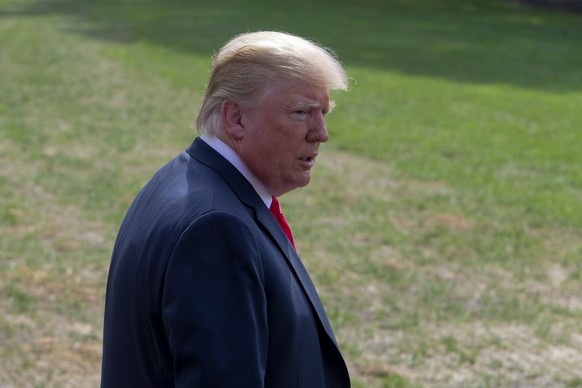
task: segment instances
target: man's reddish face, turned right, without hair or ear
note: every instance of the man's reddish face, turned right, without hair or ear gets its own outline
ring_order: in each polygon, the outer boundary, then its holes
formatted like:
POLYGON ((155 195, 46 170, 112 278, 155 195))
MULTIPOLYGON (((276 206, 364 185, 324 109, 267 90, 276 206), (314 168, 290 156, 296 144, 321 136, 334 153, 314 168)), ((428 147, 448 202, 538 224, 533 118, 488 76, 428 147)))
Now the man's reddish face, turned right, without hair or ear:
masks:
POLYGON ((258 107, 243 109, 239 156, 271 194, 309 183, 319 143, 329 137, 329 110, 327 88, 303 84, 277 86, 258 107))

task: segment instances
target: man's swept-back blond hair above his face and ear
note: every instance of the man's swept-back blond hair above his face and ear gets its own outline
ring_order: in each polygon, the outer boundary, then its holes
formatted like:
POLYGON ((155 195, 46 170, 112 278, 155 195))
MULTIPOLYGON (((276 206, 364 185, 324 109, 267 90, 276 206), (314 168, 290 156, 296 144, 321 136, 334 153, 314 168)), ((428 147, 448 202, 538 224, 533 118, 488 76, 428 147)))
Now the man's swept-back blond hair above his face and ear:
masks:
POLYGON ((273 31, 241 34, 215 55, 198 117, 200 133, 218 135, 224 100, 252 107, 274 84, 304 82, 347 90, 346 72, 335 55, 304 38, 273 31))

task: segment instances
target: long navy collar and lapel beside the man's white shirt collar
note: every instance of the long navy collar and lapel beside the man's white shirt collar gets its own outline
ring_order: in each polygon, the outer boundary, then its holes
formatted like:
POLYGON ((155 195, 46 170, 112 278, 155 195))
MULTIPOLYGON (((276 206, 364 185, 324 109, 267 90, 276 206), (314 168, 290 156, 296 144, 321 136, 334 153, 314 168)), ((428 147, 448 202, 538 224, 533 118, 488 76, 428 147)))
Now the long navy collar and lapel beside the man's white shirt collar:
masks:
MULTIPOLYGON (((303 266, 301 259, 297 252, 285 236, 285 233, 269 212, 258 194, 253 189, 252 185, 244 178, 244 176, 236 169, 230 162, 223 158, 218 152, 213 150, 208 144, 201 139, 196 139, 194 143, 188 148, 187 152, 203 163, 219 173, 223 179, 229 184, 233 191, 238 195, 240 200, 246 205, 254 209, 257 221, 263 228, 273 237, 289 266, 295 273, 299 283, 305 290, 311 305, 315 309, 317 316, 323 325, 326 333, 337 346, 337 341, 333 334, 333 330, 317 294, 317 290, 303 266)), ((339 350, 339 349, 338 349, 339 350)))

